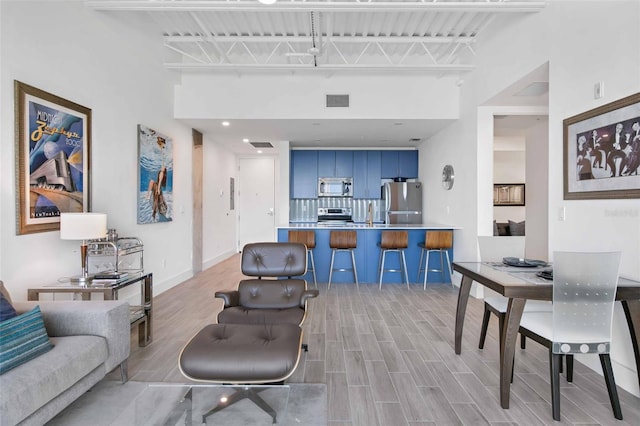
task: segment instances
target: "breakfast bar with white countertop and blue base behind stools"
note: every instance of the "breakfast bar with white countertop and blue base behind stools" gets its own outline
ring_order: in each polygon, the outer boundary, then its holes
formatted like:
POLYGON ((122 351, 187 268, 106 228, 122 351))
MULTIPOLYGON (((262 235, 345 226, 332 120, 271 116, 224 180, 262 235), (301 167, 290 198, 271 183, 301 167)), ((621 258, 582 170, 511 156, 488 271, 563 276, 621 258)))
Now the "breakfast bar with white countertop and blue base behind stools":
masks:
MULTIPOLYGON (((423 223, 423 224, 384 224, 374 223, 368 225, 366 223, 332 223, 332 222, 306 222, 306 223, 289 223, 277 227, 278 241, 288 241, 290 230, 313 230, 315 231, 316 247, 313 250, 315 259, 316 276, 318 282, 326 283, 329 281, 329 268, 331 264, 331 248, 329 247, 329 235, 333 230, 355 230, 357 235, 357 248, 355 249, 356 267, 358 270, 358 280, 361 283, 377 283, 378 282, 378 263, 380 260, 380 243, 383 231, 407 231, 409 244, 405 250, 407 262, 407 273, 411 283, 419 282, 422 284, 424 277, 421 275, 418 279, 418 263, 420 261, 421 249, 419 243, 424 242, 425 232, 428 230, 447 231, 460 229, 457 226, 423 223)), ((454 233, 455 243, 455 233, 454 233)), ((453 262, 453 249, 449 250, 449 258, 453 262)), ((389 268, 400 269, 397 256, 387 256, 387 265, 389 268), (394 262, 396 266, 394 266, 394 262)), ((348 256, 336 256, 334 268, 349 268, 350 259, 348 256)), ((429 260, 429 269, 440 268, 439 256, 432 255, 429 260)), ((447 267, 445 266, 445 270, 447 267)), ((310 275, 310 274, 309 274, 310 275)), ((312 280, 312 278, 311 278, 312 280)), ((310 281, 310 277, 307 277, 310 281)), ((332 277, 332 283, 351 283, 353 276, 350 272, 336 273, 332 277)), ((399 273, 386 273, 383 283, 401 283, 402 279, 399 273)), ((449 283, 450 277, 448 271, 444 274, 439 272, 429 272, 429 283, 449 283)))

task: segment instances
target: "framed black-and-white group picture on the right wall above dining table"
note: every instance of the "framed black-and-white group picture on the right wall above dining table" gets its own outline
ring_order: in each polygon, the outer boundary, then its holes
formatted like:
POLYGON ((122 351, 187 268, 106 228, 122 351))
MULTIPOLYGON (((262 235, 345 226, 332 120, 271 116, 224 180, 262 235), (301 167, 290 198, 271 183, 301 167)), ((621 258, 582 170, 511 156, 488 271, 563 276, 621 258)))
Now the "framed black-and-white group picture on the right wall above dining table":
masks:
POLYGON ((640 93, 563 121, 564 199, 640 198, 640 93))

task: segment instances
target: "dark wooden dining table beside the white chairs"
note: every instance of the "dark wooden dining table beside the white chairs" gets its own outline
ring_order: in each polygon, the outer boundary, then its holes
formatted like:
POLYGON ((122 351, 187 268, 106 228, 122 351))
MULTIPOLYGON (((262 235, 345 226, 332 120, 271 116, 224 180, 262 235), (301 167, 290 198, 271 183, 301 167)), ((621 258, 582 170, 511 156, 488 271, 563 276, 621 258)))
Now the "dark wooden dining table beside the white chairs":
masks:
MULTIPOLYGON (((462 274, 456 308, 455 353, 462 350, 462 329, 471 284, 475 281, 509 299, 500 344, 500 405, 509 408, 511 372, 513 369, 516 338, 520 319, 528 299, 552 300, 553 281, 542 278, 538 272, 549 270, 551 264, 532 268, 505 265, 501 262, 454 262, 453 270, 462 274)), ((640 281, 619 277, 616 300, 624 309, 631 335, 640 383, 640 281)))

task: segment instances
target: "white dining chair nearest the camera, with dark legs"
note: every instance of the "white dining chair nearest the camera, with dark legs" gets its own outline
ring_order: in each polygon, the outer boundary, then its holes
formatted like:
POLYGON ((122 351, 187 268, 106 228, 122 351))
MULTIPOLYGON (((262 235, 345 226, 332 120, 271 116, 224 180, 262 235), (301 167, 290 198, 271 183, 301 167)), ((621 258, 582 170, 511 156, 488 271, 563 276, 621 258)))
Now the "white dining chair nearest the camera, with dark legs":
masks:
POLYGON ((620 252, 555 252, 553 310, 525 312, 520 333, 549 348, 551 409, 560 420, 560 366, 567 358, 567 381, 573 381, 573 354, 598 354, 616 419, 622 410, 609 350, 620 269, 620 252))

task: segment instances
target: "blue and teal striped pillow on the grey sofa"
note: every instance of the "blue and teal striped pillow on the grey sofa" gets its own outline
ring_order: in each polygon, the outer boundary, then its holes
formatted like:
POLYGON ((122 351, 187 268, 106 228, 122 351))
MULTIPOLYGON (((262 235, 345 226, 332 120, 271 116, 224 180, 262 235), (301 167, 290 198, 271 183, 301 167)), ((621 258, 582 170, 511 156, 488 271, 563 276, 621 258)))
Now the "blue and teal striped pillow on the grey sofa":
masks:
POLYGON ((0 322, 0 374, 50 351, 40 306, 0 322))

